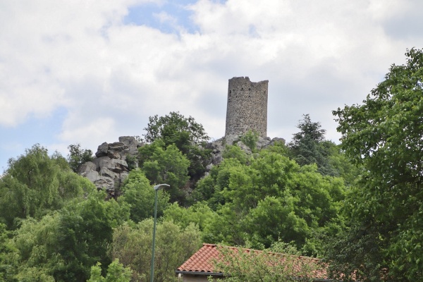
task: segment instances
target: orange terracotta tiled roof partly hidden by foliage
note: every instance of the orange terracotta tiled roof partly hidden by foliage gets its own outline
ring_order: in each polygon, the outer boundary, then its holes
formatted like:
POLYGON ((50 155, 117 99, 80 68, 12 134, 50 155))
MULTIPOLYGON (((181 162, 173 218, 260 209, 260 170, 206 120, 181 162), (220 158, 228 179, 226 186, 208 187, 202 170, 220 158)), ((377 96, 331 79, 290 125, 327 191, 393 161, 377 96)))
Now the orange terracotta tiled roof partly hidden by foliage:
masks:
MULTIPOLYGON (((226 246, 220 246, 226 247, 226 246)), ((239 250, 237 247, 228 247, 233 250, 239 250)), ((252 249, 241 249, 243 252, 262 252, 259 250, 252 250, 252 249)), ((283 262, 283 258, 286 255, 272 252, 271 255, 281 256, 281 261, 283 262)), ((207 244, 203 243, 200 250, 195 252, 186 262, 184 262, 181 266, 176 269, 176 273, 192 273, 192 274, 204 274, 204 275, 223 275, 223 273, 219 270, 215 269, 214 262, 219 261, 221 258, 221 254, 219 252, 219 248, 217 245, 214 244, 207 244)), ((298 261, 294 267, 296 270, 300 271, 302 264, 314 264, 316 270, 313 271, 315 281, 330 281, 327 280, 326 269, 319 265, 319 259, 314 259, 311 257, 302 257, 302 256, 295 256, 294 261, 298 261)))

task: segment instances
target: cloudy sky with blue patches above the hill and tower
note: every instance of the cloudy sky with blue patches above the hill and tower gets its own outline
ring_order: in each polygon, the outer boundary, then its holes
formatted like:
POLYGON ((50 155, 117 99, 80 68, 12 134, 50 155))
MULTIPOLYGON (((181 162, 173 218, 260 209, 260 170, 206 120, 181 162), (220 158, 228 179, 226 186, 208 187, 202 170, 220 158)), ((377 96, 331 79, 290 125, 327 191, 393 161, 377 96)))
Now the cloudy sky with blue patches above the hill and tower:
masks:
POLYGON ((0 0, 0 174, 39 144, 97 151, 178 111, 225 134, 228 80, 269 80, 268 132, 360 104, 423 47, 420 0, 0 0))

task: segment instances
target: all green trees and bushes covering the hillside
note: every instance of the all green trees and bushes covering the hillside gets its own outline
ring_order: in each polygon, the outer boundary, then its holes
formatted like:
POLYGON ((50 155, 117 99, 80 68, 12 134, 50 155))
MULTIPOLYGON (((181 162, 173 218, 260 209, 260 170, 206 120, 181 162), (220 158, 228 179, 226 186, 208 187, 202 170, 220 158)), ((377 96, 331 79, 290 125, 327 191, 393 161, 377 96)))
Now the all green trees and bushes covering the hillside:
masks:
POLYGON ((154 281, 175 281, 202 242, 323 258, 344 281, 421 281, 423 52, 406 56, 363 104, 333 111, 341 145, 305 114, 288 144, 258 149, 250 131, 248 150, 227 144, 202 177, 202 125, 150 117, 117 199, 74 172, 90 150, 34 145, 0 178, 0 281, 148 281, 158 183, 171 188, 159 192, 154 281))

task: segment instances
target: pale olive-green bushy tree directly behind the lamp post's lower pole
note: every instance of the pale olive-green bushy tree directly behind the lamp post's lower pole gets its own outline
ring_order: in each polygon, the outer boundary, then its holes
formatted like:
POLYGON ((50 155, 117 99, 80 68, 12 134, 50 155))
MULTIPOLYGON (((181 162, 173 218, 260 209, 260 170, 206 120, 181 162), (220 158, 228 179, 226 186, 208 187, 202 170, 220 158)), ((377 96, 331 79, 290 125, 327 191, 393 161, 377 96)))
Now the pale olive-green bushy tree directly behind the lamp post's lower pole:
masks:
MULTIPOLYGON (((114 230, 111 255, 133 270, 132 281, 149 281, 152 258, 153 220, 123 224, 114 230)), ((154 281, 175 281, 175 269, 201 245, 200 231, 193 224, 180 228, 172 221, 157 223, 154 281)))

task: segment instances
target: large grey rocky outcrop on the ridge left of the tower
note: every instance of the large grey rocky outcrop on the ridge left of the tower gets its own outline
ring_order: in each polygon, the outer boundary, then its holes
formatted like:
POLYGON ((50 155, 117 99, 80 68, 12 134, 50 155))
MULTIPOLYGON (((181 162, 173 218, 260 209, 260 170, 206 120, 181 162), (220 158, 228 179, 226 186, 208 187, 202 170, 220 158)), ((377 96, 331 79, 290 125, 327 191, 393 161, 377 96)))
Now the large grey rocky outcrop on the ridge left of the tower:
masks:
POLYGON ((104 142, 99 145, 94 159, 82 164, 78 173, 94 183, 97 189, 106 190, 112 197, 118 196, 116 191, 128 176, 128 156, 137 157, 142 145, 133 136, 119 137, 119 142, 104 142))

